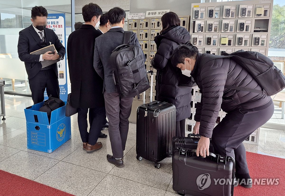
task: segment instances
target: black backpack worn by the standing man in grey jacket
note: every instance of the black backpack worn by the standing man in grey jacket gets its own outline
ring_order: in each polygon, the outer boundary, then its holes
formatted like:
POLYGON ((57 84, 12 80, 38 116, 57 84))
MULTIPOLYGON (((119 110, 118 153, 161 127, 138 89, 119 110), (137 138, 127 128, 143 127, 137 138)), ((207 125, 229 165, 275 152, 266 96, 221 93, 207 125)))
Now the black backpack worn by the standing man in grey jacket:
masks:
POLYGON ((139 96, 150 87, 144 53, 141 47, 130 45, 132 33, 124 32, 124 44, 115 48, 110 56, 115 85, 119 94, 125 98, 139 96))

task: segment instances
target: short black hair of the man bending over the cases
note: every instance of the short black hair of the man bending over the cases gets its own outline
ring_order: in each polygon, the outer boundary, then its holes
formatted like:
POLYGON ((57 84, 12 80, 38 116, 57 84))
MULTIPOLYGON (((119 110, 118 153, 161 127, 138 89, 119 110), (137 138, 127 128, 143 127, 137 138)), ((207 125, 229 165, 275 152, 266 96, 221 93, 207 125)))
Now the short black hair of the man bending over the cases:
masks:
POLYGON ((198 49, 195 46, 182 45, 176 48, 171 57, 171 64, 176 67, 179 63, 184 63, 185 58, 196 59, 198 49))

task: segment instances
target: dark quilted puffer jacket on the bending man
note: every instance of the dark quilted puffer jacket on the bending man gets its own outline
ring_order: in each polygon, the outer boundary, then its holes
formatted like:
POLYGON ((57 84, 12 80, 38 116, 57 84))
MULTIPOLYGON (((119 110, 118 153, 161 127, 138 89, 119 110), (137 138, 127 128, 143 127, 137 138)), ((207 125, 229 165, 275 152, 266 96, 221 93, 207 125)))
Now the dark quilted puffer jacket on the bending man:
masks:
MULTIPOLYGON (((243 90, 225 88, 225 85, 262 90, 255 79, 241 65, 230 58, 198 53, 191 73, 202 99, 195 104, 195 121, 200 122, 200 135, 211 137, 220 109, 230 112, 235 109, 252 109, 271 101, 270 96, 243 90)), ((239 122, 237 122, 239 123, 239 122)))

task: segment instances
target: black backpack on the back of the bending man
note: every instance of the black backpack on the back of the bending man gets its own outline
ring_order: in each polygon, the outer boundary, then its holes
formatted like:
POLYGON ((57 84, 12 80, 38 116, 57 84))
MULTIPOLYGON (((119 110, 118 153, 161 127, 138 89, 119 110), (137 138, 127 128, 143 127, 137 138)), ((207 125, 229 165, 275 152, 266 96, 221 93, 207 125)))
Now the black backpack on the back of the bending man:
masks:
POLYGON ((241 65, 258 82, 263 90, 256 90, 238 86, 225 86, 235 90, 245 90, 259 94, 274 95, 285 88, 285 77, 283 73, 274 66, 273 62, 263 54, 253 51, 239 50, 228 54, 222 52, 241 65))

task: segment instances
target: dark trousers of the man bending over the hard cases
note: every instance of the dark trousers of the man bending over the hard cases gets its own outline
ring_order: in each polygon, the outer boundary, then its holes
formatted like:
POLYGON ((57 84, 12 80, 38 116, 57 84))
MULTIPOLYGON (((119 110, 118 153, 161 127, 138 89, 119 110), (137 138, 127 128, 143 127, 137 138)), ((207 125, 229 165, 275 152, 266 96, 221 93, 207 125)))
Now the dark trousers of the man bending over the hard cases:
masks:
POLYGON ((238 174, 249 173, 243 141, 272 117, 274 105, 272 102, 265 109, 253 110, 237 109, 227 113, 212 134, 215 153, 233 157, 238 174))

